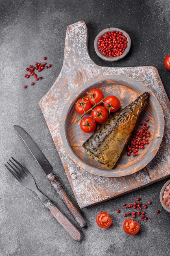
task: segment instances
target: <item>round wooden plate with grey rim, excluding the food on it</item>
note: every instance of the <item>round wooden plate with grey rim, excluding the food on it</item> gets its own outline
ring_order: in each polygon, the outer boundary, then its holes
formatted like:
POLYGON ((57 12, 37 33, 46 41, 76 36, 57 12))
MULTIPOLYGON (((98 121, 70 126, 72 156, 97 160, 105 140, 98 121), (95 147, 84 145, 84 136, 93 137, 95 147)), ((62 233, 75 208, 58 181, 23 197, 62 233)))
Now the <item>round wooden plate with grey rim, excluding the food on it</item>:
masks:
POLYGON ((61 113, 59 132, 65 151, 78 166, 94 175, 121 177, 141 170, 155 157, 163 138, 164 115, 157 97, 146 85, 128 76, 106 74, 91 79, 71 94, 61 113), (146 145, 144 150, 140 150, 137 157, 128 157, 125 148, 112 170, 87 155, 82 145, 91 134, 82 132, 79 122, 76 123, 80 115, 76 112, 74 105, 92 88, 102 90, 105 97, 108 95, 117 96, 120 99, 120 110, 145 91, 150 93, 139 117, 139 121, 144 121, 146 118, 150 120, 148 122, 151 134, 150 143, 146 145))

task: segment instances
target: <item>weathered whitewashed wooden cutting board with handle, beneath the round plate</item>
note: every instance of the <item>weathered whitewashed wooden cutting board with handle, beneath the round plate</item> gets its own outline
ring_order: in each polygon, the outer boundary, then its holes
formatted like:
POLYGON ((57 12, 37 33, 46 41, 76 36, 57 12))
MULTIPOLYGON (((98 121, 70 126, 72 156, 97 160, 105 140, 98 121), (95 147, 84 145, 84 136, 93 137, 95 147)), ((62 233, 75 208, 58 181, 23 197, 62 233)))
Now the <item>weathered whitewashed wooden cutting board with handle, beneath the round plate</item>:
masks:
POLYGON ((170 176, 170 102, 155 67, 101 67, 88 54, 88 29, 84 21, 67 28, 63 67, 49 92, 39 105, 65 168, 80 208, 109 200, 142 188, 170 176), (142 170, 124 177, 92 175, 75 164, 65 152, 59 134, 59 119, 63 101, 88 80, 102 74, 121 74, 144 83, 161 99, 165 117, 165 130, 155 158, 142 170))

